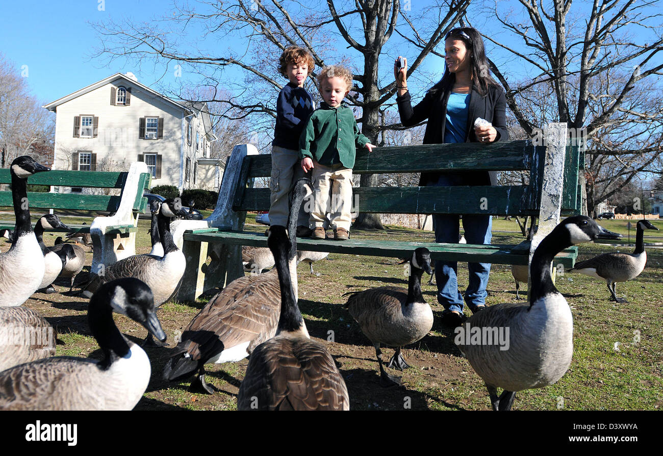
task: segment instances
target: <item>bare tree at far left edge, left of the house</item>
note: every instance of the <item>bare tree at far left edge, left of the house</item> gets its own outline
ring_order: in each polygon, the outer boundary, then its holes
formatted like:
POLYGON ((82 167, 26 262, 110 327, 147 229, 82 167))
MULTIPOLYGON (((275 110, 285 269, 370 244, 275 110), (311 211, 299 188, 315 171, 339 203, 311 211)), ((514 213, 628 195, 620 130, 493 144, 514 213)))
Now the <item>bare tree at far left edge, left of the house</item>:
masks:
MULTIPOLYGON (((34 152, 36 143, 52 143, 54 115, 30 95, 26 77, 0 54, 0 167, 5 168, 17 156, 34 152)), ((42 146, 38 146, 40 149, 42 146)))

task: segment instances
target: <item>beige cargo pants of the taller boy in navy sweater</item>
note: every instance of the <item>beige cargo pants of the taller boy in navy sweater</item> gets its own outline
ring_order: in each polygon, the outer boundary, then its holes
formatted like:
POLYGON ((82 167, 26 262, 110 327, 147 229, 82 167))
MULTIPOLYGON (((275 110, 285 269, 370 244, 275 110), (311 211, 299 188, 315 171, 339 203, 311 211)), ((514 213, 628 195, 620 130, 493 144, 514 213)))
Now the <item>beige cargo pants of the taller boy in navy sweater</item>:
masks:
MULTIPOLYGON (((290 191, 299 178, 305 176, 300 166, 298 150, 272 146, 272 175, 269 181, 269 223, 285 227, 290 213, 290 191)), ((302 204, 297 226, 308 227, 308 212, 302 204)))

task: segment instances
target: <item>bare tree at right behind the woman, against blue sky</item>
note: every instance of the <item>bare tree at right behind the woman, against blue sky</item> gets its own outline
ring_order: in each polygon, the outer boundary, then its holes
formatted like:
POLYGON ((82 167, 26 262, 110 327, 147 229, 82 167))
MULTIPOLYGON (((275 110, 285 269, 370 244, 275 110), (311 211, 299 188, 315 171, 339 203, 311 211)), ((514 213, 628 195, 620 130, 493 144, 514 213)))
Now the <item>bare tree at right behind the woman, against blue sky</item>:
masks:
POLYGON ((518 2, 520 12, 505 15, 496 6, 491 17, 522 44, 509 46, 495 36, 484 36, 536 75, 515 83, 509 80, 507 68, 514 68, 513 59, 502 68, 491 62, 491 70, 505 87, 507 103, 527 135, 558 121, 568 124, 573 137, 583 137, 591 213, 595 203, 660 163, 661 2, 574 2, 573 13, 570 0, 555 0, 545 7, 535 0, 518 2), (579 17, 587 19, 573 19, 579 17), (542 105, 542 98, 548 103, 542 105))

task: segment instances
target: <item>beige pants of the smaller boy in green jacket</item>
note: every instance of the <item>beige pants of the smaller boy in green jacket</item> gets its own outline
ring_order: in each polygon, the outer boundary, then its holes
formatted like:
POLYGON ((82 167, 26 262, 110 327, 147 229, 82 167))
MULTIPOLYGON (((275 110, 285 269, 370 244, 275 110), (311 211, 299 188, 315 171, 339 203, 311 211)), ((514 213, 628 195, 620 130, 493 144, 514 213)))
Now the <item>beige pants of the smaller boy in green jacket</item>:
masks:
POLYGON ((350 231, 352 222, 352 170, 313 162, 311 180, 314 198, 310 207, 310 227, 324 227, 330 213, 330 227, 350 231))

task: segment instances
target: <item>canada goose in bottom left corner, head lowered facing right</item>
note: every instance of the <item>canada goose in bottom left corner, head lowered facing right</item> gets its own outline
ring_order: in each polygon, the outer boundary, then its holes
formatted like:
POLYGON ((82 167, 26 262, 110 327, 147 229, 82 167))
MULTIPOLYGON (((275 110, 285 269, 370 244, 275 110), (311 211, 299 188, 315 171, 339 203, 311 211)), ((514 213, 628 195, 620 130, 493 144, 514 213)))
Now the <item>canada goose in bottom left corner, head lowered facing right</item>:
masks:
POLYGON ((154 337, 166 334, 149 286, 135 278, 103 284, 90 300, 90 331, 103 359, 54 357, 0 372, 0 410, 131 410, 150 381, 139 345, 120 333, 113 310, 141 323, 154 337))

